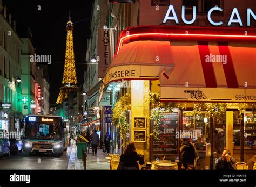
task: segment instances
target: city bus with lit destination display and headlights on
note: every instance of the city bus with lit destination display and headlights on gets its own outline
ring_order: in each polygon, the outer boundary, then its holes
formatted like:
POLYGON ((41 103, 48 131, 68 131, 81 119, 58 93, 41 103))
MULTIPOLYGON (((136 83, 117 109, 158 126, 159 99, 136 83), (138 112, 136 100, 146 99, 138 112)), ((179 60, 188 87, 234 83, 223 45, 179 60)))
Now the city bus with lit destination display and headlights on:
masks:
POLYGON ((21 124, 23 150, 62 156, 69 145, 69 120, 61 116, 28 115, 21 124))

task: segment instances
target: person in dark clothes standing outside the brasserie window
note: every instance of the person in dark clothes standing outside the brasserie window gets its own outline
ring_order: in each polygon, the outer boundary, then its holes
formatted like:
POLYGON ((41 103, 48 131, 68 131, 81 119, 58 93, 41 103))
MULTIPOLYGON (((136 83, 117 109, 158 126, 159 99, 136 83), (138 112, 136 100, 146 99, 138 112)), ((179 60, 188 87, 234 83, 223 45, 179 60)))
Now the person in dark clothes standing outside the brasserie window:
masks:
POLYGON ((186 138, 183 136, 180 147, 181 152, 181 169, 191 170, 196 169, 198 164, 198 153, 197 149, 192 143, 192 138, 186 138))

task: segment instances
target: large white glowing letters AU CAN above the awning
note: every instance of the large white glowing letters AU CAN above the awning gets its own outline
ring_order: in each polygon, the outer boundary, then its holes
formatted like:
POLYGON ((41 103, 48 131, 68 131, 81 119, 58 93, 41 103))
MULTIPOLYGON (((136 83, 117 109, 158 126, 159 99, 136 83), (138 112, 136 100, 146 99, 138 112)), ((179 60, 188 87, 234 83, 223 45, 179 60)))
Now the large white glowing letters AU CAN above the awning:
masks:
MULTIPOLYGON (((214 25, 214 26, 220 26, 223 24, 223 21, 219 21, 216 22, 214 20, 212 20, 212 12, 213 11, 220 11, 223 12, 223 9, 221 9, 218 6, 214 6, 213 8, 211 8, 208 13, 207 13, 207 19, 208 21, 214 25)), ((247 9, 247 26, 251 25, 251 18, 253 18, 254 20, 256 20, 256 15, 255 13, 252 11, 252 9, 248 8, 247 9)), ((169 8, 166 12, 165 18, 163 20, 163 23, 166 23, 167 20, 174 20, 176 24, 179 24, 179 20, 177 17, 177 14, 175 12, 175 9, 173 7, 173 5, 169 5, 169 8), (170 13, 172 13, 172 16, 170 16, 170 13)), ((187 24, 193 24, 194 21, 196 21, 196 6, 193 6, 193 16, 191 20, 186 20, 185 18, 185 6, 181 6, 181 20, 187 24)), ((244 26, 244 24, 242 24, 242 20, 241 17, 239 15, 239 11, 237 8, 233 8, 232 12, 231 12, 231 16, 230 19, 228 20, 228 24, 227 26, 231 26, 231 24, 233 23, 239 23, 240 26, 244 26)))

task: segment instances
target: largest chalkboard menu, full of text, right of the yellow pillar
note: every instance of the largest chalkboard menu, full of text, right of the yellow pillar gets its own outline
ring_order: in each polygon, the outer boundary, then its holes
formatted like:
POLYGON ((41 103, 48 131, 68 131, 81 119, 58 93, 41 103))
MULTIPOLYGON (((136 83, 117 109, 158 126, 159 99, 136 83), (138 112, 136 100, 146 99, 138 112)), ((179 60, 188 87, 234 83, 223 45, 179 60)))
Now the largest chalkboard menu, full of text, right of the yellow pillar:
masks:
MULTIPOLYGON (((154 124, 154 121, 153 121, 154 124)), ((153 138, 153 155, 178 154, 178 112, 166 113, 159 126, 159 140, 153 138)))

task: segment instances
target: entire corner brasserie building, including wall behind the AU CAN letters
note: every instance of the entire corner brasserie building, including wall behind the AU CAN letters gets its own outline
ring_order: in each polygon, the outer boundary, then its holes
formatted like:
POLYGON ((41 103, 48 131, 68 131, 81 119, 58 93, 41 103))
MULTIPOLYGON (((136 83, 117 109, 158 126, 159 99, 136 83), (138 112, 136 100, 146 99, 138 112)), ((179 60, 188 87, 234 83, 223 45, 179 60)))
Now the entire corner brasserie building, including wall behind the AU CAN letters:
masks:
MULTIPOLYGON (((95 8, 99 4, 100 2, 95 1, 95 8)), ((116 50, 105 77, 100 80, 103 84, 99 100, 101 103, 104 93, 110 93, 110 105, 114 111, 118 110, 120 102, 126 106, 123 109, 124 116, 113 115, 110 123, 111 134, 116 134, 113 137, 116 141, 112 145, 113 153, 118 153, 117 150, 121 149, 120 145, 124 141, 134 141, 137 151, 145 155, 146 161, 166 156, 169 160, 177 161, 181 140, 180 136, 173 137, 178 133, 191 131, 197 134, 197 141, 204 144, 201 151, 205 159, 201 163, 201 169, 213 169, 216 158, 213 154, 215 129, 225 132, 225 140, 221 136, 225 142, 222 148, 230 149, 237 161, 245 161, 251 166, 255 149, 250 147, 248 151, 249 147, 245 146, 252 146, 254 142, 253 133, 246 131, 252 131, 247 126, 253 122, 251 119, 255 113, 255 81, 252 77, 241 75, 245 75, 242 71, 245 71, 246 66, 255 67, 255 6, 252 1, 240 4, 238 1, 231 3, 221 0, 207 3, 200 0, 108 2, 109 10, 97 20, 105 19, 104 25, 115 28, 113 48, 116 50), (223 67, 220 67, 220 63, 215 63, 216 59, 212 59, 213 54, 215 57, 224 55, 229 61, 228 65, 225 66, 227 61, 221 59, 223 67), (241 56, 248 59, 240 59, 241 56), (247 65, 240 66, 240 62, 247 65), (220 69, 217 70, 218 68, 220 69), (210 71, 211 75, 208 74, 210 71), (233 78, 228 78, 231 75, 233 78), (250 87, 247 88, 248 82, 250 87), (212 88, 220 89, 219 95, 213 96, 207 91, 212 88), (235 90, 231 91, 231 88, 235 90), (231 92, 237 93, 237 97, 231 96, 231 92), (218 100, 217 96, 222 96, 222 100, 218 100), (245 99, 248 97, 251 99, 245 99), (120 98, 123 99, 120 101, 120 98), (190 102, 186 103, 181 99, 190 102), (149 100, 151 104, 148 103, 149 100), (159 100, 163 102, 161 107, 156 105, 159 100), (214 108, 212 113, 210 106, 214 108), (241 112, 241 107, 246 112, 241 112), (157 124, 154 122, 156 113, 162 108, 173 110, 161 116, 160 123, 157 124), (245 120, 241 120, 241 116, 245 120), (120 126, 124 127, 122 120, 129 124, 126 134, 119 133, 120 126), (250 135, 239 136, 243 131, 250 135)), ((95 16, 97 13, 93 11, 95 16)), ((103 28, 104 25, 98 28, 103 28)), ((88 46, 89 51, 96 49, 92 45, 88 46)), ((93 55, 87 54, 89 59, 93 55)), ((250 70, 250 75, 254 74, 253 71, 250 70)), ((88 80, 92 77, 89 73, 88 80)), ((90 90, 89 103, 90 96, 93 95, 90 90)), ((94 90, 97 92, 97 89, 94 90)), ((102 115, 101 128, 107 131, 108 124, 104 120, 107 119, 102 115)))

